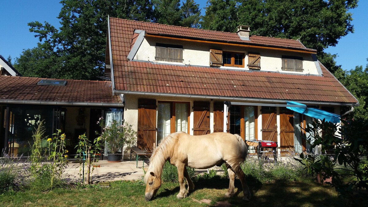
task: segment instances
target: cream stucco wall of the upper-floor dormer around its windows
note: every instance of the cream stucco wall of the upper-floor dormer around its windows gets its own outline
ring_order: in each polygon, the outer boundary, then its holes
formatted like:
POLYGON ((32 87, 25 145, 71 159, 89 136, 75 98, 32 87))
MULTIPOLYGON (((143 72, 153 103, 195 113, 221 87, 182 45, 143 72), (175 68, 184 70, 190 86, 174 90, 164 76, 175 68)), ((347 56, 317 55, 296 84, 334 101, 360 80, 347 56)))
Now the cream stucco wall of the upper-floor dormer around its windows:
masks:
POLYGON ((173 64, 186 64, 186 65, 195 65, 195 66, 205 66, 209 67, 209 57, 210 57, 210 49, 220 49, 223 51, 229 52, 241 52, 245 54, 244 62, 245 67, 221 67, 224 69, 232 69, 232 70, 249 70, 247 67, 248 63, 248 53, 255 52, 261 55, 261 71, 273 71, 280 73, 296 73, 296 74, 318 74, 316 69, 315 62, 312 59, 310 54, 304 53, 296 53, 296 52, 285 52, 285 51, 277 51, 277 50, 266 50, 266 49, 250 49, 244 47, 236 47, 236 46, 226 46, 226 45, 214 45, 214 44, 206 44, 206 43, 194 43, 188 41, 174 41, 170 39, 159 39, 159 38, 145 38, 138 49, 137 54, 134 57, 134 60, 143 60, 143 61, 151 61, 158 63, 170 63, 170 62, 162 62, 156 61, 156 43, 166 43, 173 45, 183 45, 183 63, 173 63, 173 64), (303 69, 304 72, 290 72, 290 71, 282 71, 282 55, 287 56, 298 56, 303 57, 303 69))

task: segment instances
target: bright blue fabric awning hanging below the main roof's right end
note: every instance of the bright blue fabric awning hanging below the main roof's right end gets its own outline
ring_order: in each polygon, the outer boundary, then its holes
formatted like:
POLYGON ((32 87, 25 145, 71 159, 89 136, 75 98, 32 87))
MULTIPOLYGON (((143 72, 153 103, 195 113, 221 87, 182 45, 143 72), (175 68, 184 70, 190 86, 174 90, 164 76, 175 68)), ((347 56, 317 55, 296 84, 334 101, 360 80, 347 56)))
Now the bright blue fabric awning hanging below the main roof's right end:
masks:
POLYGON ((293 110, 295 112, 298 113, 302 113, 304 115, 316 118, 316 119, 325 119, 326 122, 332 122, 332 123, 339 123, 340 122, 340 116, 335 114, 335 113, 330 113, 330 112, 326 112, 325 110, 321 110, 321 109, 316 109, 316 108, 307 108, 307 105, 302 104, 302 103, 298 103, 298 102, 294 102, 294 101, 287 101, 286 102, 287 109, 293 110), (304 105, 305 108, 301 108, 301 107, 292 107, 292 105, 304 105))

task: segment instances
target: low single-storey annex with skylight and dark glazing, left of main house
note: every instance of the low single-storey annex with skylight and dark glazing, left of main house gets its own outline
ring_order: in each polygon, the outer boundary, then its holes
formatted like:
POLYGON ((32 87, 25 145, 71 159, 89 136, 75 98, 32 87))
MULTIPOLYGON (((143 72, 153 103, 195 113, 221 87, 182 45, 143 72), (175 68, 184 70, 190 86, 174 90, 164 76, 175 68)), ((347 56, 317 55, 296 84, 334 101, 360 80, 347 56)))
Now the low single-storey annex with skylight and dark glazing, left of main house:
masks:
POLYGON ((45 122, 45 136, 61 129, 68 154, 76 154, 79 135, 85 133, 90 141, 98 136, 100 117, 121 119, 123 114, 111 81, 0 76, 0 83, 0 149, 13 156, 29 155, 39 121, 45 122))

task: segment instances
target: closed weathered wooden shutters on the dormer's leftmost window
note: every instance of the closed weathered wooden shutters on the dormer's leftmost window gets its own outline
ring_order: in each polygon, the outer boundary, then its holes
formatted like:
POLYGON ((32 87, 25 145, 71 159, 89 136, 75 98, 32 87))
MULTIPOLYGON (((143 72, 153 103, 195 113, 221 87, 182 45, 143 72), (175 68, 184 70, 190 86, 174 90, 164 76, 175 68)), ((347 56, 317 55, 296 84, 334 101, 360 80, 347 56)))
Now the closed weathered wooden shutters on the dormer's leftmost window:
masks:
POLYGON ((155 60, 183 63, 183 46, 156 43, 155 60))

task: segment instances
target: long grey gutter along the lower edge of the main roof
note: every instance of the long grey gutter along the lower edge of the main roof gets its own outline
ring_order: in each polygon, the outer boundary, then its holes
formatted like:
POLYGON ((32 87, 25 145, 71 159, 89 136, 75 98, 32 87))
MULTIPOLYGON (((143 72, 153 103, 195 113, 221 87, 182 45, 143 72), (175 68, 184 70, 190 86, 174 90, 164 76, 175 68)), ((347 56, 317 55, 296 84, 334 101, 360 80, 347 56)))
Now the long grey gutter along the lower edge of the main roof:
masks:
MULTIPOLYGON (((264 99, 264 98, 239 98, 239 97, 219 97, 219 96, 205 96, 205 95, 185 95, 185 94, 165 94, 165 93, 153 93, 153 92, 137 92, 137 91, 121 91, 116 90, 117 94, 127 95, 149 95, 157 97, 178 97, 178 98, 203 98, 203 99, 217 99, 226 101, 252 101, 252 102, 263 102, 263 103, 286 103, 286 101, 292 100, 280 100, 280 99, 264 99)), ((316 102, 316 101, 300 101, 293 100, 305 105, 332 105, 332 106, 351 106, 359 105, 358 103, 334 103, 334 102, 316 102)))

